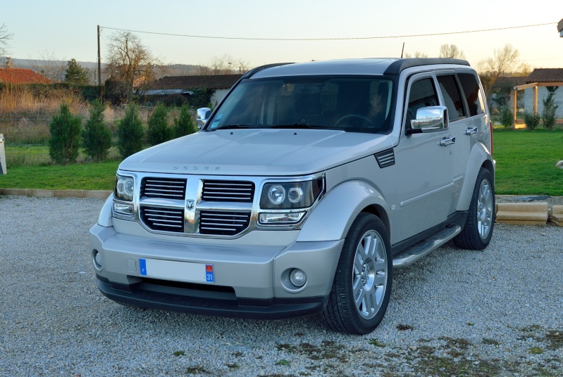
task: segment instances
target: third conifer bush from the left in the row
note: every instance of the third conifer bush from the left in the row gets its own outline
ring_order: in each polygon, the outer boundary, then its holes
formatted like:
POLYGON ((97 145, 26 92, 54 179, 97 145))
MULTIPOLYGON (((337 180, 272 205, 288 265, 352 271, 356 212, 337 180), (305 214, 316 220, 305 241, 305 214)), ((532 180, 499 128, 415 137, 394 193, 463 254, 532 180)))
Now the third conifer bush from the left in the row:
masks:
POLYGON ((117 137, 121 157, 127 158, 142 150, 144 129, 137 106, 131 104, 125 109, 125 117, 119 120, 117 137))

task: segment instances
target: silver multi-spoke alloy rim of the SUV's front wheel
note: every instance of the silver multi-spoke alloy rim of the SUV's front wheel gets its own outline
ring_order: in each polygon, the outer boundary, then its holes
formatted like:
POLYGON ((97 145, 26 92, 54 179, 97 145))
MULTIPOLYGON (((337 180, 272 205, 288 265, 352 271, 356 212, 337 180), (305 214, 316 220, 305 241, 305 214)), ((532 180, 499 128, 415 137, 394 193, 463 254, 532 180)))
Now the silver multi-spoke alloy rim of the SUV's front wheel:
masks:
POLYGON ((376 316, 383 302, 387 286, 385 243, 376 231, 361 237, 354 254, 352 293, 354 305, 364 319, 376 316))

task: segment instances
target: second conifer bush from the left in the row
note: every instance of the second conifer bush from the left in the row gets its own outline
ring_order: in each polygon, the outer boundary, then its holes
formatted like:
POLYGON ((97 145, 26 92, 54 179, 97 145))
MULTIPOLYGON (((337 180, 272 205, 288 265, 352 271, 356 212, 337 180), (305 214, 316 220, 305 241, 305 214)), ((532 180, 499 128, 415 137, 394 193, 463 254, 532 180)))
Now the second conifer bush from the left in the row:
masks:
POLYGON ((96 162, 108 157, 111 147, 111 131, 104 122, 106 106, 99 100, 92 101, 89 108, 90 117, 82 130, 82 149, 85 155, 96 162))

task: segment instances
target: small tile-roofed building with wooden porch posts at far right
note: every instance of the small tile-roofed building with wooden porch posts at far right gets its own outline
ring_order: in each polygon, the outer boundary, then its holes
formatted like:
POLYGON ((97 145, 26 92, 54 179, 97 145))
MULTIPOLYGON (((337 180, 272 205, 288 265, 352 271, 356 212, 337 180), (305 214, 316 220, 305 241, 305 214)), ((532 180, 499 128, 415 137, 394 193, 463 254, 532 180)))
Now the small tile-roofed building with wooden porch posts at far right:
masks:
MULTIPOLYGON (((514 97, 517 91, 524 91, 524 109, 533 113, 543 113, 543 100, 547 97, 546 87, 563 87, 563 68, 536 68, 524 80, 525 84, 514 87, 514 97)), ((563 117, 563 89, 555 91, 555 103, 559 104, 555 117, 563 117)), ((516 103, 512 101, 514 119, 516 119, 516 103)))

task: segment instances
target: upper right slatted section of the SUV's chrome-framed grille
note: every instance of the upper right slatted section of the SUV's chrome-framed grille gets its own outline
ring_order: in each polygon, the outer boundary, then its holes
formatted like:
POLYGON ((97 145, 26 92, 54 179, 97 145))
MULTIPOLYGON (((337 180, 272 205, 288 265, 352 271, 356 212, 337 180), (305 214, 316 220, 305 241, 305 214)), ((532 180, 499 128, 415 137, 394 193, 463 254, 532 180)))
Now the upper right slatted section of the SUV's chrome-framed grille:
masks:
POLYGON ((202 200, 252 203, 254 183, 249 181, 204 181, 202 200))

